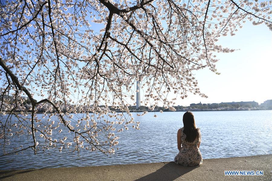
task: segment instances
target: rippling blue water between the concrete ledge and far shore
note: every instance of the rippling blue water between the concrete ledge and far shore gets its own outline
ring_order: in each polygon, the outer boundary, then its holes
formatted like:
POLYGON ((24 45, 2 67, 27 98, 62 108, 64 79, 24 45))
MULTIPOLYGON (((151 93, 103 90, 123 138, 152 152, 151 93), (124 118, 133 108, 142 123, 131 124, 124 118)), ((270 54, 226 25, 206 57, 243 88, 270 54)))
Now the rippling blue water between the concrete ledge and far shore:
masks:
MULTIPOLYGON (((30 169, 172 161, 178 153, 176 131, 183 126, 183 114, 135 116, 134 121, 141 121, 141 130, 118 133, 120 149, 114 156, 89 151, 82 151, 80 157, 65 152, 33 155, 33 151, 26 151, 23 155, 0 157, 0 167, 30 169)), ((194 112, 194 115, 202 134, 200 151, 204 159, 272 154, 272 111, 194 112)), ((28 143, 24 137, 19 141, 28 143)))

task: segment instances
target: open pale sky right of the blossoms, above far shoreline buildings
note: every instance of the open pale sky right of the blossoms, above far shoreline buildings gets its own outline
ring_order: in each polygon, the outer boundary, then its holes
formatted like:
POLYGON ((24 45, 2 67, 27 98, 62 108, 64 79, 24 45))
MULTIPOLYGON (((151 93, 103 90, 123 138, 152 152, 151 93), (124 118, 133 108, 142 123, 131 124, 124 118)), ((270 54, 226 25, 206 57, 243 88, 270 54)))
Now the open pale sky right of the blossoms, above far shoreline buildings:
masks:
POLYGON ((235 36, 220 37, 218 44, 240 49, 233 53, 220 53, 216 63, 221 75, 209 69, 196 72, 202 93, 209 98, 189 94, 178 99, 176 105, 190 103, 220 103, 256 101, 259 104, 272 99, 272 32, 265 24, 253 26, 246 22, 235 36))

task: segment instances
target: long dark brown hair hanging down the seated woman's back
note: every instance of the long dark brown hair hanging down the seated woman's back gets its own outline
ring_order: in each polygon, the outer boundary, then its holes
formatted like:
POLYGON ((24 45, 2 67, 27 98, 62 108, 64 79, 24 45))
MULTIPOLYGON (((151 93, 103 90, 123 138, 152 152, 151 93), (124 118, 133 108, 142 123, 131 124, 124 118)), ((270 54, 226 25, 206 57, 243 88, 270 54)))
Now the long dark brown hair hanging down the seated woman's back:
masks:
POLYGON ((192 112, 187 111, 183 115, 183 133, 186 134, 186 141, 193 142, 198 137, 195 118, 192 112))

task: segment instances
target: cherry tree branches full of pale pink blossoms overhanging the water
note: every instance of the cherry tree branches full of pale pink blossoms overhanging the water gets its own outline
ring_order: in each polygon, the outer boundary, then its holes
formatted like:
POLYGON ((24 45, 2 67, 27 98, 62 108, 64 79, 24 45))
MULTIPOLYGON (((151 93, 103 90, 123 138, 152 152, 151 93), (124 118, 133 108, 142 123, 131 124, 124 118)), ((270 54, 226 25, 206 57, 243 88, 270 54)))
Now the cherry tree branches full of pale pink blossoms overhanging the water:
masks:
POLYGON ((162 102, 174 111, 187 92, 206 97, 193 72, 208 67, 219 74, 215 53, 234 50, 217 41, 245 21, 272 30, 271 4, 1 0, 2 156, 27 149, 113 154, 118 131, 140 129, 129 111, 136 81, 151 110, 162 102), (11 144, 23 134, 28 145, 11 144))

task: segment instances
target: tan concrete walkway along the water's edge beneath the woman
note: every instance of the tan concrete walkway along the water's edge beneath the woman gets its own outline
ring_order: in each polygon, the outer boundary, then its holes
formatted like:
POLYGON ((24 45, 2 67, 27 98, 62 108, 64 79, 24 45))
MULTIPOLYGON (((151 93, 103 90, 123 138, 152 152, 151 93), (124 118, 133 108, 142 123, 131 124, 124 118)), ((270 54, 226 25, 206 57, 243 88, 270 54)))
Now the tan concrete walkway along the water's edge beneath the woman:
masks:
POLYGON ((272 180, 272 154, 203 160, 202 166, 173 162, 114 166, 2 170, 2 180, 272 180), (225 176, 224 170, 261 170, 263 176, 225 176))

